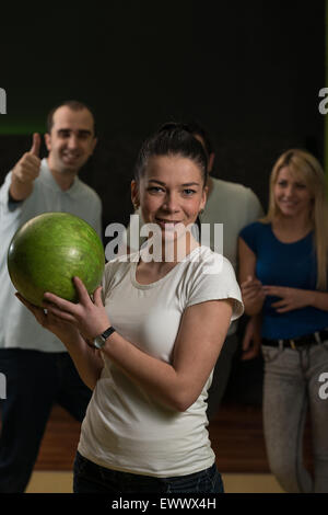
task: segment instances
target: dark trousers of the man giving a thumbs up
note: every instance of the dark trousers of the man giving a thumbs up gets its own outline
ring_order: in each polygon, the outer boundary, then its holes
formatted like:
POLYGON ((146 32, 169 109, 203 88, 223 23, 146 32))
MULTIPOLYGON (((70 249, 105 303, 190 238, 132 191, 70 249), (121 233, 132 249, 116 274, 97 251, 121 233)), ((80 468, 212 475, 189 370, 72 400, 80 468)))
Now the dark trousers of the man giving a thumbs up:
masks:
POLYGON ((54 403, 81 422, 91 398, 67 352, 0 350, 7 399, 0 401, 0 493, 22 493, 54 403))

